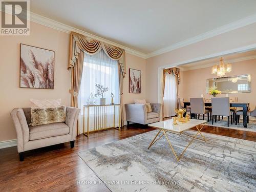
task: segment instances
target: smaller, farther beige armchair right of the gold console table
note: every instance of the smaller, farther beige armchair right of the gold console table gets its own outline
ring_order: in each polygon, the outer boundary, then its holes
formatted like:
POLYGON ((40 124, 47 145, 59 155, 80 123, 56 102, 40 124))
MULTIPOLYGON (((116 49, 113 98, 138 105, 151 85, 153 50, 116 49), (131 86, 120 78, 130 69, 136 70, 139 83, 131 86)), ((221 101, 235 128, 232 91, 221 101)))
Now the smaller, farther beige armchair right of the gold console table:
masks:
POLYGON ((130 122, 149 124, 160 121, 160 103, 151 103, 152 112, 146 112, 145 104, 124 104, 124 106, 127 125, 130 122))

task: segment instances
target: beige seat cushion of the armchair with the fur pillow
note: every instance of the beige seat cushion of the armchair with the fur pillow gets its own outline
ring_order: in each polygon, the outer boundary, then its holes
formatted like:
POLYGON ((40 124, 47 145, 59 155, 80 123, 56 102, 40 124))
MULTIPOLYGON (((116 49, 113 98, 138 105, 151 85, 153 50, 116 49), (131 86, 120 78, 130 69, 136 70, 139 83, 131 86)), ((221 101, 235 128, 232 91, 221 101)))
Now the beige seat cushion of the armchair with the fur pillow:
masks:
POLYGON ((66 134, 69 134, 69 126, 65 123, 29 126, 29 140, 44 139, 66 134))

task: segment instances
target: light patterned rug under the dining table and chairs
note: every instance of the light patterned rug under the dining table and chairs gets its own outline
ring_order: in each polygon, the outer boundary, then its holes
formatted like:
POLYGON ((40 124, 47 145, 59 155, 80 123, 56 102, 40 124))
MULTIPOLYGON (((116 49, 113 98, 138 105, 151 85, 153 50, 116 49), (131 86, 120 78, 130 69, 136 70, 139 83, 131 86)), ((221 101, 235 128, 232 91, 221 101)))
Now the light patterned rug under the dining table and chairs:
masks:
POLYGON ((251 131, 251 132, 256 132, 256 119, 255 117, 250 117, 249 118, 249 123, 247 124, 247 127, 245 128, 243 125, 243 119, 241 118, 239 123, 236 125, 235 123, 230 124, 229 127, 227 126, 227 118, 224 117, 223 119, 220 118, 220 121, 214 122, 214 124, 211 124, 211 121, 207 122, 207 125, 209 126, 219 126, 223 128, 228 128, 228 129, 234 129, 234 130, 243 130, 243 131, 251 131))

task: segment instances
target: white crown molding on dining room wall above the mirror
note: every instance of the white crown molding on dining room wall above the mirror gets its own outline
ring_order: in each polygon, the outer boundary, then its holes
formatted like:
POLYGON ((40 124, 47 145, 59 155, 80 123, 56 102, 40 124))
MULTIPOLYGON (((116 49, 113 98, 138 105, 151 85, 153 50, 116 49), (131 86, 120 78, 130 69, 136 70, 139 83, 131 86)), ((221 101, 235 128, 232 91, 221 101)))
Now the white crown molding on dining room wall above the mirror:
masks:
MULTIPOLYGON (((234 63, 234 62, 240 62, 240 61, 251 60, 251 59, 256 59, 256 55, 225 60, 225 63, 234 63)), ((208 68, 208 67, 212 67, 212 66, 215 66, 215 65, 217 65, 216 62, 212 62, 212 63, 207 63, 207 64, 204 64, 204 65, 201 64, 201 65, 198 65, 198 66, 192 66, 192 67, 188 67, 188 68, 184 68, 184 67, 180 66, 179 68, 180 68, 181 71, 190 71, 190 70, 195 70, 195 69, 208 68)))

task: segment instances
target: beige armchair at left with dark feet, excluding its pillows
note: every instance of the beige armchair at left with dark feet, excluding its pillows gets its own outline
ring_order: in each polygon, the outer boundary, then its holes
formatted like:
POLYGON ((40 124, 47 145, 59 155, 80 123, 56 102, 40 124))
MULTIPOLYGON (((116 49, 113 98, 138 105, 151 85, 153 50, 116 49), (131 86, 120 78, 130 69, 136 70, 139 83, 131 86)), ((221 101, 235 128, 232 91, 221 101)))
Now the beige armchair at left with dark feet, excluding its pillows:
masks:
POLYGON ((76 125, 80 109, 67 107, 65 123, 51 123, 29 126, 30 108, 15 108, 11 112, 16 133, 19 160, 24 160, 24 152, 35 148, 55 145, 70 141, 73 148, 76 139, 76 125))

